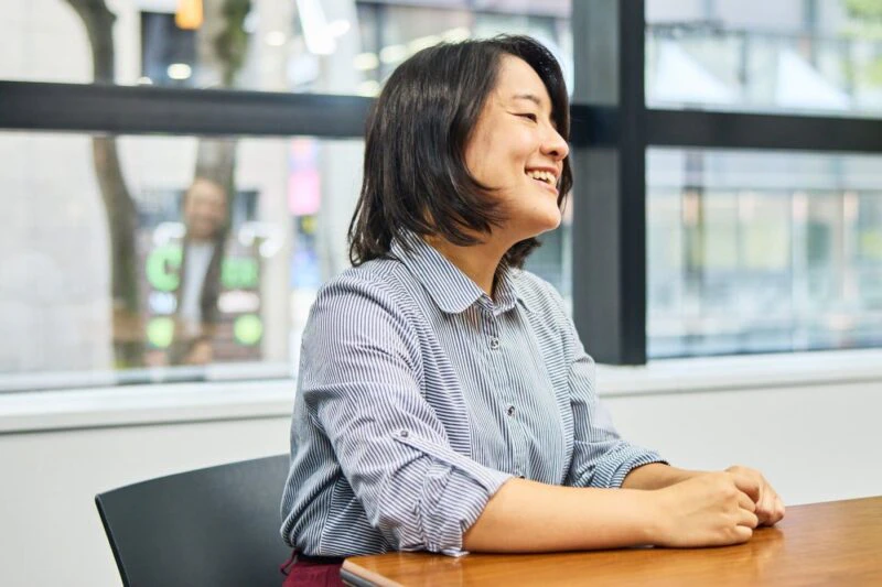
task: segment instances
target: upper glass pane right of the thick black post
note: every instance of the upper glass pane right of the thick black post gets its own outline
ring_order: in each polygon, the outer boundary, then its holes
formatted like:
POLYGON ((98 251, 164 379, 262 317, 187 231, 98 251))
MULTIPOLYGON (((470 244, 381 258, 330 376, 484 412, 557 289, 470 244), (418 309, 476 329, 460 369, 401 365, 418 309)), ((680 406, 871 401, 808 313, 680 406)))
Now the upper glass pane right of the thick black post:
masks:
POLYGON ((646 2, 646 102, 882 115, 882 2, 646 2))

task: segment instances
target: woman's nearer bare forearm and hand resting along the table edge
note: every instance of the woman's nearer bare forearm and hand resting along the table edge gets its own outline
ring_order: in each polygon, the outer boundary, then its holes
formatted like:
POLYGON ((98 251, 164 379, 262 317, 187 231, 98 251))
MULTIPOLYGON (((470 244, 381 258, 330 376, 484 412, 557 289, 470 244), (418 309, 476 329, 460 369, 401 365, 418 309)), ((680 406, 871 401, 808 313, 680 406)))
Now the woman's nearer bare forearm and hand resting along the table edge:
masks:
POLYGON ((753 501, 728 474, 652 491, 556 487, 510 479, 463 536, 475 552, 716 546, 747 541, 753 501))

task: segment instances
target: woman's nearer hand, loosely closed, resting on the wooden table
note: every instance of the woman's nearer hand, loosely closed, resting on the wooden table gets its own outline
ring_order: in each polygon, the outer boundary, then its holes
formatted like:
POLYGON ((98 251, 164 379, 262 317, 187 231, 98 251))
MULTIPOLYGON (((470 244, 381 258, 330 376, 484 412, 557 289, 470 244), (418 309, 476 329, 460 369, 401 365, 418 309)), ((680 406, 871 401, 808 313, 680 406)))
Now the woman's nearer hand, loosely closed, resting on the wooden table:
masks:
POLYGON ((724 546, 746 542, 760 523, 753 499, 738 482, 755 478, 738 472, 708 472, 648 491, 656 506, 653 544, 674 547, 724 546))

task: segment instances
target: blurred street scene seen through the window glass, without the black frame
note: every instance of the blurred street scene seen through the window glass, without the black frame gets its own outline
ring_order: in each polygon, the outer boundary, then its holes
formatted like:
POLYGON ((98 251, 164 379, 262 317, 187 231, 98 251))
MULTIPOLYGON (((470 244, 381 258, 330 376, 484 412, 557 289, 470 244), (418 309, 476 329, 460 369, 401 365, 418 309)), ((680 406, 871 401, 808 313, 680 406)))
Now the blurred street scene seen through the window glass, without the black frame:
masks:
MULTIPOLYGON (((649 107, 882 115, 878 1, 645 10, 649 107)), ((572 85, 570 11, 569 0, 4 0, 0 78, 373 97, 422 47, 507 32, 546 43, 572 85)), ((348 265, 357 138, 0 130, 0 323, 26 333, 0 339, 0 389, 283 376, 318 286, 348 265), (212 272, 186 237, 184 195, 200 177, 220 187, 212 272)), ((880 345, 880 163, 649 148, 648 358, 880 345)), ((528 268, 569 300, 570 215, 544 240, 528 268)))

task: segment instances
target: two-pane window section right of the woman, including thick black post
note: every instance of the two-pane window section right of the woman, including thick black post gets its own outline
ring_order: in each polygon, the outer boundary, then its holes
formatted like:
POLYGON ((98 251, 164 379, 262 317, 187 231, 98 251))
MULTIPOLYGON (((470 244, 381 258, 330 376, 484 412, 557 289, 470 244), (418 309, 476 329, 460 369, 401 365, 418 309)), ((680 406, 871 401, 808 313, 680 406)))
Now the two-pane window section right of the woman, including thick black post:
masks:
POLYGON ((598 360, 880 344, 859 243, 880 228, 881 20, 850 0, 573 12, 573 315, 598 360))

